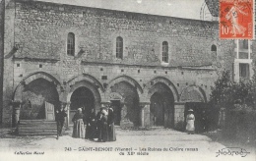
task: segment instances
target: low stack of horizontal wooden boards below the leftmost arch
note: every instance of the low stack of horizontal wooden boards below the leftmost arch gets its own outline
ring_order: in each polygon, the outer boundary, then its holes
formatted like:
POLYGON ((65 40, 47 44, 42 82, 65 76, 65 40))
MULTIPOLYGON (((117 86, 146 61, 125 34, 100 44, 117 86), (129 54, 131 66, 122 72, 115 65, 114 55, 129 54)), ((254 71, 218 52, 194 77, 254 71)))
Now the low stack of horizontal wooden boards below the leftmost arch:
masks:
POLYGON ((46 120, 20 120, 17 132, 19 135, 56 135, 57 124, 46 120))

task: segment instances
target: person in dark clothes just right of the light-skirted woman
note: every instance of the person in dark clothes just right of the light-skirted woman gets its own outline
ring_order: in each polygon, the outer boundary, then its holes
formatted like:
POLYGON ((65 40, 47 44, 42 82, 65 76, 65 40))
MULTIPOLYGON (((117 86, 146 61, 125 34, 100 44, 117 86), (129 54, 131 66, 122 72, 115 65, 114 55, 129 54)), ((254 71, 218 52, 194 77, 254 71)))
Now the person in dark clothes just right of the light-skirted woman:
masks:
POLYGON ((91 113, 88 115, 87 119, 86 139, 94 138, 96 138, 96 114, 95 109, 92 108, 91 113))

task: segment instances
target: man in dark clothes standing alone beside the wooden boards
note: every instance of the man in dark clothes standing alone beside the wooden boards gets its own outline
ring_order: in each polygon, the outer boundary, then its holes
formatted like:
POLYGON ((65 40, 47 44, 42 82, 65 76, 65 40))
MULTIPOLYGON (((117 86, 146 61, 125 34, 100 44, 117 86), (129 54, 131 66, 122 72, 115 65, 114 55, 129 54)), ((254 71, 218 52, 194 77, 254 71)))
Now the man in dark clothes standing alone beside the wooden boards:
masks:
POLYGON ((60 109, 56 111, 57 139, 59 139, 59 136, 62 136, 62 129, 64 126, 65 117, 67 117, 67 113, 65 111, 65 103, 62 102, 60 109))

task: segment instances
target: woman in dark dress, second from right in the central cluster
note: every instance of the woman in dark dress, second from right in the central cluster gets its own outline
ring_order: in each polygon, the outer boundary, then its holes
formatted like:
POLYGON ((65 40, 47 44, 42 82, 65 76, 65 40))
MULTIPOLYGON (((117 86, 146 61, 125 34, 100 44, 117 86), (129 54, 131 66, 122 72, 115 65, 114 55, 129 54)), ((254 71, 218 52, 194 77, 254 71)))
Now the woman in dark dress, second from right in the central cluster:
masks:
POLYGON ((98 141, 105 142, 108 140, 107 112, 102 110, 100 113, 98 141))

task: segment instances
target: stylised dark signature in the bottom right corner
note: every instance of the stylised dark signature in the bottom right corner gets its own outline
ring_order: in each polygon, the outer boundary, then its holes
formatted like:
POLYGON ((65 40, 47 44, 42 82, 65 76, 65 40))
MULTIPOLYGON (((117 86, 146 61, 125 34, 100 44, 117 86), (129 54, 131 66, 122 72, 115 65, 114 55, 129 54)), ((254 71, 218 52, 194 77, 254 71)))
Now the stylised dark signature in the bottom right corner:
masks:
POLYGON ((220 155, 229 155, 229 156, 241 156, 241 157, 245 157, 247 156, 247 154, 249 154, 250 152, 247 152, 245 149, 240 148, 240 147, 225 147, 221 150, 219 150, 217 153, 217 156, 220 155))

